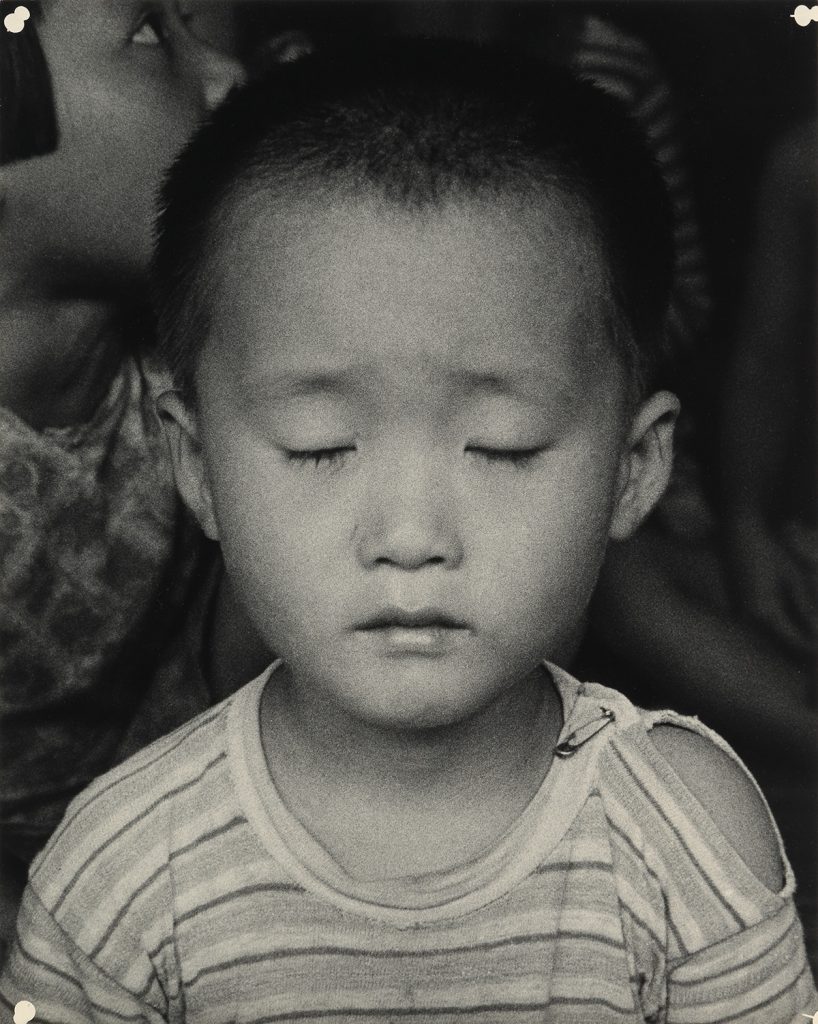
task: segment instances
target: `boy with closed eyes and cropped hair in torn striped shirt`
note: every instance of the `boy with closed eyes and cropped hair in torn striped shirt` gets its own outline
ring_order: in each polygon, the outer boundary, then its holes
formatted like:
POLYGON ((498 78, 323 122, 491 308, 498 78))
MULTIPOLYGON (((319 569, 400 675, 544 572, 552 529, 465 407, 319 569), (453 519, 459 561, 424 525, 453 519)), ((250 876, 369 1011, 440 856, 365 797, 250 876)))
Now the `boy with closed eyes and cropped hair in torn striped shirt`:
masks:
POLYGON ((666 211, 614 101, 450 45, 310 58, 228 99, 165 199, 177 484, 282 658, 75 801, 7 1005, 818 1010, 735 756, 558 667, 678 410, 666 211))

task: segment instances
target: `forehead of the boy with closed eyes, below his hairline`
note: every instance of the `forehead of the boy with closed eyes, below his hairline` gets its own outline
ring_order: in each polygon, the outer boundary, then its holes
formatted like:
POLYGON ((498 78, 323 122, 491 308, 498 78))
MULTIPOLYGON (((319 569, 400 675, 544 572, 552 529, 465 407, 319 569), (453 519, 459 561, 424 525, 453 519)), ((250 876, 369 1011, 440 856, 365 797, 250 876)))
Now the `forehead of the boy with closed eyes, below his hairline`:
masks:
POLYGON ((609 349, 607 268, 583 205, 251 199, 222 224, 213 344, 249 376, 423 364, 568 374, 609 349))

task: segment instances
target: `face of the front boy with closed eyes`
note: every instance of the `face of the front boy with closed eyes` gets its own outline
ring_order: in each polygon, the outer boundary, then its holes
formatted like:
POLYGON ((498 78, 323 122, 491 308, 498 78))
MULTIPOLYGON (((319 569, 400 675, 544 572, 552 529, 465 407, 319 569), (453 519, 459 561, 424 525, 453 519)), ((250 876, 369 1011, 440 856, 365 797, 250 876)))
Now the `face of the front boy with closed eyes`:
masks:
POLYGON ((462 721, 571 650, 642 514, 598 247, 572 203, 245 212, 182 490, 304 692, 462 721))

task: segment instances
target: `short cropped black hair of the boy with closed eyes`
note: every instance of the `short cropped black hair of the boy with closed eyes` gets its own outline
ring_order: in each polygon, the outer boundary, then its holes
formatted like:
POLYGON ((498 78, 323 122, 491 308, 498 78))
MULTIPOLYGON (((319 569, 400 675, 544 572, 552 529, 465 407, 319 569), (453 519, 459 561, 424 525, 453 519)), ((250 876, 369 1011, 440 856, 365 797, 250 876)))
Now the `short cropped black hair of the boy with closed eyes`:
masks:
POLYGON ((195 400, 205 270, 222 216, 260 193, 380 196, 405 208, 464 197, 576 197, 605 247, 612 339, 634 391, 664 382, 671 213, 618 101, 518 53, 440 41, 311 55, 228 96, 162 191, 152 291, 177 387, 195 400))

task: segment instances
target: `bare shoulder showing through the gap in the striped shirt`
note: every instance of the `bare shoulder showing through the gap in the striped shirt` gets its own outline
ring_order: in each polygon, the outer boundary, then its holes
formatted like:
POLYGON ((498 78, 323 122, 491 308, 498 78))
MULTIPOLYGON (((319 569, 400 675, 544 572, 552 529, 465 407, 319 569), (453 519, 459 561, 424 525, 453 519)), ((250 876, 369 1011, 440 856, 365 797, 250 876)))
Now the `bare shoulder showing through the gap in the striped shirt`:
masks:
POLYGON ((676 725, 657 725, 650 738, 718 823, 752 873, 773 892, 784 869, 770 814, 746 772, 706 737, 676 725))

